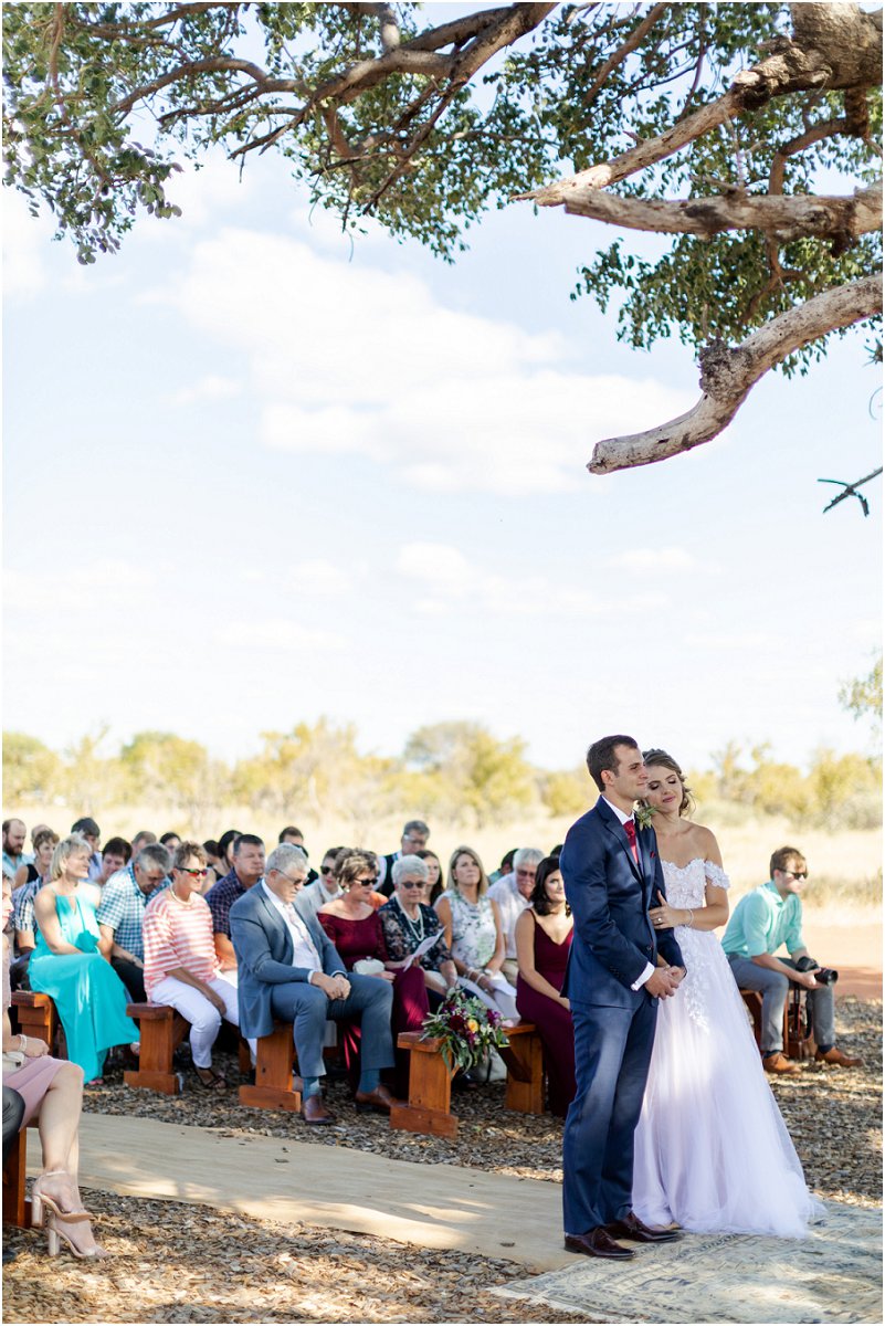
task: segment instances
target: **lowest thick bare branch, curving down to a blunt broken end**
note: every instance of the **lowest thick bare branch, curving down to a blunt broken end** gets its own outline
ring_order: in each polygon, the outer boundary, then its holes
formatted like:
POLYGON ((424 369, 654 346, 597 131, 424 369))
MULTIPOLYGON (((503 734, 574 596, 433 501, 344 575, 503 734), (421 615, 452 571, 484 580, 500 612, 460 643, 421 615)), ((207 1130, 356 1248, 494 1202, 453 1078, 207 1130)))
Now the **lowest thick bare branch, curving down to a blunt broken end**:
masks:
POLYGON ((734 349, 714 341, 701 351, 703 395, 694 408, 645 432, 605 438, 596 443, 587 468, 592 475, 607 475, 612 469, 651 465, 710 442, 731 423, 768 369, 803 345, 881 312, 881 278, 866 276, 782 313, 734 349))

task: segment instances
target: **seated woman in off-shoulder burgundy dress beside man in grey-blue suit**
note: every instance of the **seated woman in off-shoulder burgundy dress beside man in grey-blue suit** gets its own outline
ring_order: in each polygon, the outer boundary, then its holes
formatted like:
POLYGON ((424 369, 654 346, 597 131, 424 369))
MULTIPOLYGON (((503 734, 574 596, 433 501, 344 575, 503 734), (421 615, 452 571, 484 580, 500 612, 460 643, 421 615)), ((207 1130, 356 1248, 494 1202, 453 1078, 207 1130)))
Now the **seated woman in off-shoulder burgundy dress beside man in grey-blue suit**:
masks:
MULTIPOLYGON (((321 907, 317 919, 338 951, 342 963, 351 972, 356 963, 375 959, 384 964, 379 971, 364 975, 391 981, 393 985, 393 1012, 391 1014, 393 1045, 399 1032, 420 1032, 429 1013, 424 972, 415 963, 407 971, 388 971, 391 961, 380 918, 372 904, 378 883, 378 859, 371 851, 348 851, 335 861, 335 879, 340 894, 321 907)), ((344 1065, 350 1070, 352 1037, 343 1037, 344 1065)))

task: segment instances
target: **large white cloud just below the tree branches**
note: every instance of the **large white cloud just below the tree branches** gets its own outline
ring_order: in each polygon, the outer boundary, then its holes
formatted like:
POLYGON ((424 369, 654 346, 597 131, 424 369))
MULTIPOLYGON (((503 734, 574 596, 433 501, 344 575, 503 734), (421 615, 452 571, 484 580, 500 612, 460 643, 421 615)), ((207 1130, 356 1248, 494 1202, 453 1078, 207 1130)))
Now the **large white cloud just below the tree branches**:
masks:
POLYGON ((415 276, 276 235, 225 229, 148 297, 245 355, 268 446, 367 456, 425 491, 578 488, 599 438, 689 404, 582 371, 559 333, 448 309, 415 276))

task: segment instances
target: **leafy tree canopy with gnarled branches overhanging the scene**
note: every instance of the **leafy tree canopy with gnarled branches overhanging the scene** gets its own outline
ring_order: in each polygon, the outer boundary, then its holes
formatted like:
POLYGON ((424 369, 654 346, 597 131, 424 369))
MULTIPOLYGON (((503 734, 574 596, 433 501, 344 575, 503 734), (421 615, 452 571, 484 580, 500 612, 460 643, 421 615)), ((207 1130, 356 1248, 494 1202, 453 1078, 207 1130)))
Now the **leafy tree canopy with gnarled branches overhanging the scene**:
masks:
MULTIPOLYGON (((273 149, 346 228, 450 260, 521 199, 605 223, 572 294, 647 349, 678 335, 702 395, 599 442, 590 469, 721 432, 770 369, 881 316, 881 11, 857 4, 16 4, 7 182, 81 261, 221 145, 273 149), (629 236, 660 236, 656 256, 629 236)), ((543 244, 543 219, 538 221, 543 244)))

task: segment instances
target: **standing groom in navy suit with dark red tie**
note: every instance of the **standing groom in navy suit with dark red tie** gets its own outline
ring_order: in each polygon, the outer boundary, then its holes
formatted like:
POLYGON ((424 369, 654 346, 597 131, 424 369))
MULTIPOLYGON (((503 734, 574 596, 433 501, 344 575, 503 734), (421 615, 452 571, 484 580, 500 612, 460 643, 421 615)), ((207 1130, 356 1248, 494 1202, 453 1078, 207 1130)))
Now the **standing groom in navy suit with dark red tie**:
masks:
POLYGON ((562 993, 578 1079, 563 1136, 566 1248, 625 1258, 633 1253, 615 1238, 676 1237, 644 1225, 631 1192, 657 1001, 676 992, 685 968, 673 931, 656 932, 648 916, 666 891, 654 831, 633 819, 648 782, 641 752, 632 737, 603 737, 587 752, 587 768, 601 796, 571 826, 560 857, 575 918, 562 993))

